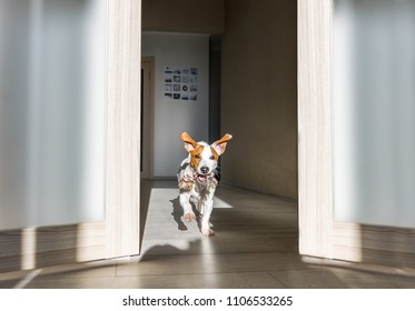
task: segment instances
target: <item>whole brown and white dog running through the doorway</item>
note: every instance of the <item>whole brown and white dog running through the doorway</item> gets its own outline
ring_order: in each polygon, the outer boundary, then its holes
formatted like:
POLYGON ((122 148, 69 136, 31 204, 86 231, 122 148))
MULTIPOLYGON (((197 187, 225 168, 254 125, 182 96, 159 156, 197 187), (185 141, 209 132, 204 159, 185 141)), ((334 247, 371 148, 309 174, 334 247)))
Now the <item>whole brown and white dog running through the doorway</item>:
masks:
POLYGON ((209 219, 214 209, 216 185, 220 180, 217 171, 218 159, 225 152, 226 144, 231 138, 230 134, 225 134, 209 146, 204 141, 196 142, 187 132, 180 134, 189 156, 181 162, 177 172, 179 201, 186 221, 196 219, 191 202, 196 204, 201 214, 200 231, 206 237, 215 234, 210 229, 209 219))

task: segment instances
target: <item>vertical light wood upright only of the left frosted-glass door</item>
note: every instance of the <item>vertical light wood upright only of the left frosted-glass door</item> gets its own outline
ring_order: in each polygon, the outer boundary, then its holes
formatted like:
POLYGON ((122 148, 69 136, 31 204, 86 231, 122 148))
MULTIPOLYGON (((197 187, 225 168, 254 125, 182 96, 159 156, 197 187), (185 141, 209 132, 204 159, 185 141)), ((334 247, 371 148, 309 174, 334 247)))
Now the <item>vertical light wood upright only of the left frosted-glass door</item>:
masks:
POLYGON ((139 252, 141 0, 108 0, 106 257, 139 252))

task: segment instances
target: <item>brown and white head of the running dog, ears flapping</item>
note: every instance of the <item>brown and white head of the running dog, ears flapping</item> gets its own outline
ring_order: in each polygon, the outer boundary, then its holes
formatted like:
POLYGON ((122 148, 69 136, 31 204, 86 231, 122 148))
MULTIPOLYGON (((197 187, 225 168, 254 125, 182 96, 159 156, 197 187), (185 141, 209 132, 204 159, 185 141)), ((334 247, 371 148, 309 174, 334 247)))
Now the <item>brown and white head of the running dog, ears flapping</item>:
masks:
POLYGON ((225 152, 226 144, 231 140, 231 134, 225 134, 213 144, 196 142, 187 132, 180 134, 185 142, 185 149, 190 154, 190 165, 198 174, 207 175, 214 172, 218 165, 219 157, 225 152))

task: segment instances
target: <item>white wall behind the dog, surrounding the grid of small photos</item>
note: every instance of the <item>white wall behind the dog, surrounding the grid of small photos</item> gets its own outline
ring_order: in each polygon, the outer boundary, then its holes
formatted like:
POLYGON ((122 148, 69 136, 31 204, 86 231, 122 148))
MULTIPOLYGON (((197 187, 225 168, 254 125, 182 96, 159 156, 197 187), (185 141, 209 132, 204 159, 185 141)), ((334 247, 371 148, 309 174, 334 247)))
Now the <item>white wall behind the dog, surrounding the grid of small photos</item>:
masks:
POLYGON ((154 177, 174 177, 187 157, 179 134, 208 139, 209 37, 144 32, 142 57, 155 58, 154 177), (198 69, 197 101, 165 99, 166 67, 198 69))

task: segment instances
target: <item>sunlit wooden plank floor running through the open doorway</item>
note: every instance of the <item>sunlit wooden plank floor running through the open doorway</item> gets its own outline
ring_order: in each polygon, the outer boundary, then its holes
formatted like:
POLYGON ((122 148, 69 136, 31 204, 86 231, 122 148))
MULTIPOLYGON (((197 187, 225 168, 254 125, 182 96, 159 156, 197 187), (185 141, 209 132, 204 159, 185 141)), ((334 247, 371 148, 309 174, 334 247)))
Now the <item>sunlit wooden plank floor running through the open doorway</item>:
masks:
POLYGON ((415 273, 302 258, 293 200, 220 185, 202 237, 174 181, 142 182, 141 255, 0 274, 0 288, 415 288, 415 273))

